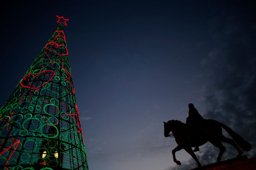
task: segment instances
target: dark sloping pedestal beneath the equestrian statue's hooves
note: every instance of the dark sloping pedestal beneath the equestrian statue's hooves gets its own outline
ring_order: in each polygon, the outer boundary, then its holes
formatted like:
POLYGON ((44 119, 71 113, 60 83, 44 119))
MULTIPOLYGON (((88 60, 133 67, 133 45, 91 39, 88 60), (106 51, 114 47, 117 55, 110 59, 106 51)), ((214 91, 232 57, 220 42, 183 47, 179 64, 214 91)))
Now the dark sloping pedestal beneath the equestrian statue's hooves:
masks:
POLYGON ((190 170, 252 170, 256 169, 256 158, 247 159, 246 156, 241 158, 228 159, 219 163, 214 163, 200 168, 190 170))

